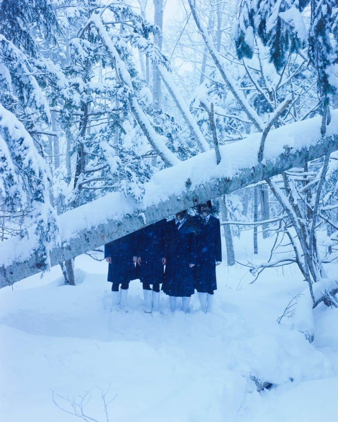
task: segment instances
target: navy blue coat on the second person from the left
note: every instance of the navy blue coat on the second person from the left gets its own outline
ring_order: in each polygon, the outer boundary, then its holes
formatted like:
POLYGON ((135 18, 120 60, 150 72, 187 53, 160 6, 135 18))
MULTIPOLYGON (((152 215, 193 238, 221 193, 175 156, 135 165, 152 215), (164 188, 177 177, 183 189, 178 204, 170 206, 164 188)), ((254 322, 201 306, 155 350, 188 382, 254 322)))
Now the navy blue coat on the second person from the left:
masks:
POLYGON ((135 233, 135 255, 141 257, 141 266, 138 266, 138 277, 141 283, 162 283, 165 258, 165 226, 163 219, 151 224, 135 233))

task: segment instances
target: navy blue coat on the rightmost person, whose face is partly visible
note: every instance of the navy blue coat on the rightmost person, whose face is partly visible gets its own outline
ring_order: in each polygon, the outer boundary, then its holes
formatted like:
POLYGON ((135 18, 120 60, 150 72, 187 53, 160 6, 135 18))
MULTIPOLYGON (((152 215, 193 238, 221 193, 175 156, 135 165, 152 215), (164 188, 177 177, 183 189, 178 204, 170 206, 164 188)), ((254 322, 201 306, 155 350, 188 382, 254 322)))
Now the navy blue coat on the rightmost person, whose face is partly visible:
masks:
POLYGON ((201 216, 192 219, 199 227, 195 288, 197 292, 211 292, 217 289, 216 261, 222 261, 221 226, 219 219, 212 215, 206 224, 201 216))

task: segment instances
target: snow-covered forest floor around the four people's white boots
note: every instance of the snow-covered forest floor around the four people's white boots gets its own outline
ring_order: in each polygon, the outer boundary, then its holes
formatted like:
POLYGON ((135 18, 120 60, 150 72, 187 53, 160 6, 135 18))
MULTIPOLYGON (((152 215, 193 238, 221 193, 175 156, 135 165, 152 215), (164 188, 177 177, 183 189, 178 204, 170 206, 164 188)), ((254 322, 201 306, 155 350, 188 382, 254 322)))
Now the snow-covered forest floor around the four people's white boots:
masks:
MULTIPOLYGON (((260 240, 262 259, 271 240, 260 240), (263 243, 264 242, 264 243, 263 243)), ((252 234, 235 239, 236 259, 252 259, 252 234)), ((225 250, 225 247, 223 248, 225 250)), ((1 420, 78 420, 69 398, 89 398, 84 413, 106 421, 319 421, 332 419, 338 389, 338 309, 315 309, 315 341, 276 319, 306 287, 289 265, 260 278, 236 264, 217 268, 213 314, 197 297, 190 314, 145 314, 132 281, 129 313, 111 313, 105 261, 75 260, 78 285, 62 285, 59 268, 1 289, 1 420), (270 381, 258 393, 250 379, 270 381), (293 381, 291 380, 293 379, 293 381)), ((331 267, 331 271, 337 268, 331 267)), ((196 296, 196 295, 195 295, 196 296)))

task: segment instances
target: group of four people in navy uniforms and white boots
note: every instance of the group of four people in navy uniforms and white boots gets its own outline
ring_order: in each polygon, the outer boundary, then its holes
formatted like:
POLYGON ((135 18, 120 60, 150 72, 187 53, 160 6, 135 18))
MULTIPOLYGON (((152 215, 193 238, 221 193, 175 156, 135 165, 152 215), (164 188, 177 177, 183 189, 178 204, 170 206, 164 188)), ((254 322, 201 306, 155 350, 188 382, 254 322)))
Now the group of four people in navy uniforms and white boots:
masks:
POLYGON ((195 289, 202 311, 212 310, 222 246, 219 219, 211 210, 211 201, 207 201, 198 207, 196 216, 182 211, 168 222, 163 219, 105 245, 113 310, 127 311, 129 281, 133 279, 142 283, 147 313, 159 309, 160 284, 169 296, 172 312, 177 298, 182 298, 182 310, 189 312, 195 289))

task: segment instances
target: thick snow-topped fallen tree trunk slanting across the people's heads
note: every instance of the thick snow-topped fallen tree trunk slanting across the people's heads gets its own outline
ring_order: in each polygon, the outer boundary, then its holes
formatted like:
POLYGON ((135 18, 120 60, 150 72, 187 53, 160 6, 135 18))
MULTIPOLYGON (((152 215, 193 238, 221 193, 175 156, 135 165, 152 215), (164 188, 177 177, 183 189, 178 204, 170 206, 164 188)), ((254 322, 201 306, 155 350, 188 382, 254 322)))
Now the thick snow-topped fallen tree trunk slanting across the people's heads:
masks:
MULTIPOLYGON (((292 167, 338 150, 338 111, 333 111, 327 135, 320 134, 320 117, 295 122, 270 131, 264 158, 258 162, 261 133, 220 148, 216 165, 214 151, 198 154, 156 173, 144 184, 141 203, 113 192, 59 216, 61 244, 54 245, 51 265, 66 261, 140 228, 208 199, 269 179, 292 167)), ((36 259, 37 238, 0 243, 0 287, 41 271, 36 259)))

